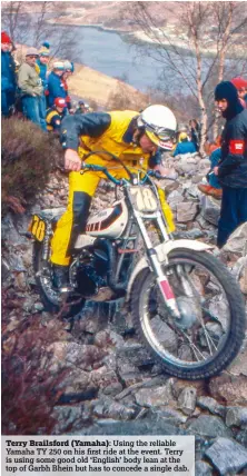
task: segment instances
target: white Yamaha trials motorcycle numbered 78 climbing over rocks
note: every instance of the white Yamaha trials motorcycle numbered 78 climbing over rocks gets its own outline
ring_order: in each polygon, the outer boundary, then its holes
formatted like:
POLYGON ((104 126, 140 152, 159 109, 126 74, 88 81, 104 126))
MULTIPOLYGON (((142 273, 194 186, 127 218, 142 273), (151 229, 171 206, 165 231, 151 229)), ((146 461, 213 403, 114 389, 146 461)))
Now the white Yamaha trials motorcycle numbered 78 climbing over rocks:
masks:
MULTIPOLYGON (((93 153, 99 152, 85 159, 93 153)), ((67 305, 72 315, 86 300, 110 303, 125 297, 139 340, 167 374, 188 380, 213 377, 233 361, 244 340, 240 289, 214 255, 214 247, 174 239, 172 214, 156 180, 164 177, 154 170, 132 173, 122 167, 128 179, 118 180, 106 167, 83 166, 102 172, 124 198, 90 216, 86 232, 78 237, 67 305), (154 236, 158 244, 152 242, 154 236)), ((50 310, 61 309, 65 299, 53 286, 50 262, 50 241, 59 218, 43 210, 30 225, 37 286, 50 310)))

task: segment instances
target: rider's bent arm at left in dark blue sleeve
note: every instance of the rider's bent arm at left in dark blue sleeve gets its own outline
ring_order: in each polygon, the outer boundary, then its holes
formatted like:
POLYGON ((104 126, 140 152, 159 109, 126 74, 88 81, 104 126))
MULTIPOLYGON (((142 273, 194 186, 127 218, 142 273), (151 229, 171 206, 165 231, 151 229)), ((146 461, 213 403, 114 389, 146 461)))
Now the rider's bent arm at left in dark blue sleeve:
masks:
POLYGON ((60 141, 65 149, 77 150, 80 136, 99 137, 110 126, 111 117, 107 112, 66 116, 61 122, 60 141))

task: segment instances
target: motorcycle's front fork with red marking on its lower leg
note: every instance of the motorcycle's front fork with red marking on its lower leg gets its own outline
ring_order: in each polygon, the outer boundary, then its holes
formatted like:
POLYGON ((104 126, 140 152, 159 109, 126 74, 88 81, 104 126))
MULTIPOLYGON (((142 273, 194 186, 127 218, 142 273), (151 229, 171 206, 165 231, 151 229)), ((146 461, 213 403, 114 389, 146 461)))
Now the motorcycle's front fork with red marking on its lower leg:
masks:
MULTIPOLYGON (((167 276, 165 275, 162 267, 158 260, 157 251, 152 247, 152 242, 148 236, 147 229, 146 229, 145 224, 144 224, 144 218, 147 218, 147 219, 155 218, 157 220, 157 226, 161 231, 164 241, 168 241, 169 235, 168 235, 166 227, 164 225, 164 221, 161 218, 161 212, 158 211, 154 216, 150 216, 150 215, 144 215, 137 210, 134 210, 134 214, 135 214, 136 220, 138 222, 144 242, 146 245, 147 256, 149 258, 150 267, 151 267, 151 269, 156 276, 156 281, 157 281, 159 289, 161 291, 161 296, 164 298, 165 305, 169 308, 172 316, 176 319, 179 319, 180 313, 179 313, 179 309, 177 306, 176 297, 175 297, 174 291, 169 285, 167 276)), ((167 260, 167 262, 168 262, 168 260, 167 260)))

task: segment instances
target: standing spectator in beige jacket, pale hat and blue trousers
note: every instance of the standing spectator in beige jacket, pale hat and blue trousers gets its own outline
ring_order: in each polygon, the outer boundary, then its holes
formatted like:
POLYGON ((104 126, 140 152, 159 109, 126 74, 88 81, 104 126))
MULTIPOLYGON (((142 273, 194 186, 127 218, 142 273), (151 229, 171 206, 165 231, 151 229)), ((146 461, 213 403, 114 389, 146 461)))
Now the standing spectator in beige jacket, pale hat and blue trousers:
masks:
POLYGON ((18 71, 18 86, 21 92, 22 109, 24 116, 37 123, 41 129, 47 130, 46 122, 41 118, 41 96, 43 88, 36 65, 39 52, 36 48, 29 48, 26 53, 26 61, 18 71))

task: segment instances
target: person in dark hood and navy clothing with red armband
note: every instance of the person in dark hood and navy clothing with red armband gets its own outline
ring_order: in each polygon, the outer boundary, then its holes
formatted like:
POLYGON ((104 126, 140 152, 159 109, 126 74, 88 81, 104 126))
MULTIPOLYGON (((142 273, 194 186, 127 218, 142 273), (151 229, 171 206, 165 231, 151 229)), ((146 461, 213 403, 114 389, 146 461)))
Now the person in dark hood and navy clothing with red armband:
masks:
POLYGON ((221 159, 214 172, 223 187, 217 245, 221 248, 230 234, 247 221, 247 110, 239 102, 230 81, 215 89, 215 100, 226 119, 221 159))

